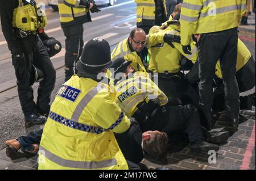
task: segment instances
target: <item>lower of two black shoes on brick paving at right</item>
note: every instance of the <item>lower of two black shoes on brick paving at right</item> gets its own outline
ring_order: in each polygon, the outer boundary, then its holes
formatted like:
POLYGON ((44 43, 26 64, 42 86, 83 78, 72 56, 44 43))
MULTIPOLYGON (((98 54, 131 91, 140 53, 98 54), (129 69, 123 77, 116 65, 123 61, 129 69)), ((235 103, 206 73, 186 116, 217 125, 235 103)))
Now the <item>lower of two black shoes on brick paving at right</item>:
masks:
POLYGON ((219 146, 215 144, 210 144, 206 141, 197 141, 193 144, 191 144, 192 151, 199 151, 199 152, 208 152, 209 150, 218 151, 219 146))

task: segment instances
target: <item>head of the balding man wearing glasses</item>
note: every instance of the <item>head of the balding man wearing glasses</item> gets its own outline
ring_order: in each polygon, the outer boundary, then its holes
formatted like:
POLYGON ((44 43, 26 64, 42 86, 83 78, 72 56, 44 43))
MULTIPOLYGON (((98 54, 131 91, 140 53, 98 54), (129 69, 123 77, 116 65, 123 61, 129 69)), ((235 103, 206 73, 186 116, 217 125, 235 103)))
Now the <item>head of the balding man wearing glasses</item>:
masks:
POLYGON ((128 38, 131 47, 136 52, 141 52, 146 45, 146 33, 142 28, 135 28, 128 38))

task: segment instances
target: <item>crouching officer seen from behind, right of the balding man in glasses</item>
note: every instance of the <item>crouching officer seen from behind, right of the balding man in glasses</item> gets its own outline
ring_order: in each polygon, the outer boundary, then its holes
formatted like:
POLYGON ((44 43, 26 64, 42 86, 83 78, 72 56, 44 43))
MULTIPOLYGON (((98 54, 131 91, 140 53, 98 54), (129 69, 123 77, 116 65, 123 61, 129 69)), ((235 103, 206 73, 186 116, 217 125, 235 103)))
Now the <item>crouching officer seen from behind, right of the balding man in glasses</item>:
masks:
MULTIPOLYGON (((185 56, 189 60, 197 58, 197 48, 195 42, 191 43, 193 54, 185 54, 180 43, 174 43, 175 38, 180 41, 180 14, 176 14, 174 19, 168 21, 168 27, 161 30, 156 27, 150 29, 148 34, 148 50, 150 61, 148 70, 158 73, 158 86, 168 98, 182 99, 182 79, 181 57, 185 56)), ((177 42, 176 41, 176 42, 177 42)))

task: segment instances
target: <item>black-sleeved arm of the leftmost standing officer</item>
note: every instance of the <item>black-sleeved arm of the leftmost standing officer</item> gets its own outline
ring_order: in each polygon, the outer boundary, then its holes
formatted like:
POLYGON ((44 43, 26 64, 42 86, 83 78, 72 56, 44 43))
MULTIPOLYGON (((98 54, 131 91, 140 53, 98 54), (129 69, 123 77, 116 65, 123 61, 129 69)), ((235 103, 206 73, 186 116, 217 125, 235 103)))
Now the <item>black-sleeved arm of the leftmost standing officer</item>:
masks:
POLYGON ((21 54, 23 51, 20 48, 18 41, 15 38, 13 30, 13 11, 15 9, 15 1, 1 1, 0 17, 2 24, 3 36, 7 41, 7 45, 11 54, 21 54))

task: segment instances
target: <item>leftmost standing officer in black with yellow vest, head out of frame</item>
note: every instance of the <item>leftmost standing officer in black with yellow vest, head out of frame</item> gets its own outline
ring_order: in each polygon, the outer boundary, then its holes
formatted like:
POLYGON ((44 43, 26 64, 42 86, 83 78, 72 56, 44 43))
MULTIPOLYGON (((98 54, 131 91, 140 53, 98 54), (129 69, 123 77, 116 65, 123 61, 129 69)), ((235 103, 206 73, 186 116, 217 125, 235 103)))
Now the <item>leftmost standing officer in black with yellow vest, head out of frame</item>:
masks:
POLYGON ((0 2, 3 35, 12 54, 17 78, 19 100, 27 123, 42 124, 49 112, 51 92, 55 85, 55 69, 39 36, 38 28, 46 26, 47 19, 38 10, 35 1, 14 0, 0 2), (43 71, 44 79, 38 88, 34 102, 31 87, 32 70, 43 71), (45 116, 43 116, 45 115, 45 116))

